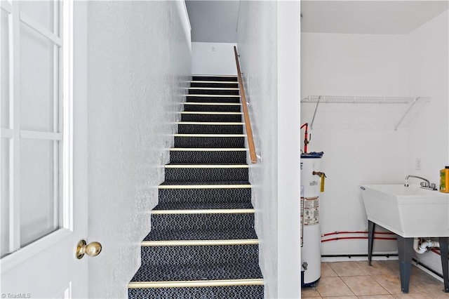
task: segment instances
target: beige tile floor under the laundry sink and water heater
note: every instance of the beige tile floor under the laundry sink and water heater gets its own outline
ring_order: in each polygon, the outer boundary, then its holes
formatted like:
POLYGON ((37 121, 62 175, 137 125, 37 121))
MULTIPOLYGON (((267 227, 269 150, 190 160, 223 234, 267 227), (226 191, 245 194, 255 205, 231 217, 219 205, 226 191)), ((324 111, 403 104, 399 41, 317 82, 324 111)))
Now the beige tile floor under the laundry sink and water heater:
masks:
POLYGON ((302 288, 301 298, 449 298, 443 283, 412 266, 408 294, 401 291, 397 260, 321 263, 316 288, 302 288))

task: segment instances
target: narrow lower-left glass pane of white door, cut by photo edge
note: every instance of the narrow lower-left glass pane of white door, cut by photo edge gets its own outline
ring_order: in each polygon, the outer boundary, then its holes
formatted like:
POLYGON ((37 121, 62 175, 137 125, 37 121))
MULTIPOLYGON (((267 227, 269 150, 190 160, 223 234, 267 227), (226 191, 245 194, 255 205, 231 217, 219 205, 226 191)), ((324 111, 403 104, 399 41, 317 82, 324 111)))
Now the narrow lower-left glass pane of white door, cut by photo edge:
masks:
POLYGON ((9 251, 9 139, 0 138, 0 225, 1 249, 4 256, 9 251))

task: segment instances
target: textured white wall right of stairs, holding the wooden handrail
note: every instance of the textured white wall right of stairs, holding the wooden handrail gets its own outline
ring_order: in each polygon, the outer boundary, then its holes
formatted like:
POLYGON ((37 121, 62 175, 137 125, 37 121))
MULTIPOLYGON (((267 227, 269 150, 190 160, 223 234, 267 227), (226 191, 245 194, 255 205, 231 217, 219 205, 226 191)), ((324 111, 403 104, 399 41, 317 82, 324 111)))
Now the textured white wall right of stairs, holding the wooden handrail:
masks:
POLYGON ((242 1, 237 49, 255 148, 262 154, 262 161, 250 165, 250 182, 266 298, 277 298, 278 293, 276 13, 272 1, 242 1))

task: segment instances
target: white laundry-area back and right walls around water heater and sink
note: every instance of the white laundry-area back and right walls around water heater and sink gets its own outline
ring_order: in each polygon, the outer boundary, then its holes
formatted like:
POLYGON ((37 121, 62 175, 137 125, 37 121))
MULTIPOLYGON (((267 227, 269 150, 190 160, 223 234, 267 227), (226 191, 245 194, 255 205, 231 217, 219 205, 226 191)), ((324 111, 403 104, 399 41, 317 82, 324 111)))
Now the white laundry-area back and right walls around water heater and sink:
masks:
MULTIPOLYGON (((366 230, 360 184, 401 183, 407 174, 438 184, 439 169, 449 163, 447 11, 410 34, 302 34, 301 55, 302 97, 431 98, 431 103, 398 131, 394 126, 403 115, 403 107, 319 105, 309 131, 309 151, 325 153, 321 171, 328 178, 320 201, 323 233, 366 230), (416 158, 422 159, 421 171, 415 170, 416 158)), ((302 104, 302 123, 310 123, 314 108, 314 104, 302 104)), ((394 241, 375 242, 377 252, 395 250, 394 241)), ((366 251, 365 240, 322 244, 323 255, 366 251)), ((426 263, 433 265, 431 255, 420 258, 429 257, 426 263)))

